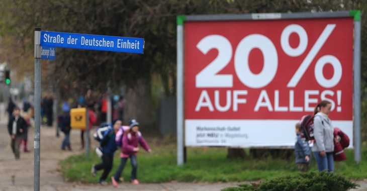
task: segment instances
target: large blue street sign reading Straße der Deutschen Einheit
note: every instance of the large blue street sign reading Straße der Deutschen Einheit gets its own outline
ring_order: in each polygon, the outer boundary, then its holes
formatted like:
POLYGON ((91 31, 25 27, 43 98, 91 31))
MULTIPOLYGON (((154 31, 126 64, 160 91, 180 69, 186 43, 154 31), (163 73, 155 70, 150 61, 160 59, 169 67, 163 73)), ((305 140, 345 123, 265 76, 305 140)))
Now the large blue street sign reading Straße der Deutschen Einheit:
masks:
POLYGON ((41 46, 143 54, 144 39, 41 31, 41 46))

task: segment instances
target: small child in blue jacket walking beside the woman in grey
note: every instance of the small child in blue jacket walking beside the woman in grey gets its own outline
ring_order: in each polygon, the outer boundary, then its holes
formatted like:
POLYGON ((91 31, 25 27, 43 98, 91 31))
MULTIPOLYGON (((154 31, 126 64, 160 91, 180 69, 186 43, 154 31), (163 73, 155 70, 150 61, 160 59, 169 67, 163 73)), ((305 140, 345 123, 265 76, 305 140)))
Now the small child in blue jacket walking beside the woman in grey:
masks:
POLYGON ((300 123, 296 123, 296 164, 298 164, 299 172, 307 172, 308 165, 310 164, 311 149, 307 141, 301 139, 301 126, 300 123))

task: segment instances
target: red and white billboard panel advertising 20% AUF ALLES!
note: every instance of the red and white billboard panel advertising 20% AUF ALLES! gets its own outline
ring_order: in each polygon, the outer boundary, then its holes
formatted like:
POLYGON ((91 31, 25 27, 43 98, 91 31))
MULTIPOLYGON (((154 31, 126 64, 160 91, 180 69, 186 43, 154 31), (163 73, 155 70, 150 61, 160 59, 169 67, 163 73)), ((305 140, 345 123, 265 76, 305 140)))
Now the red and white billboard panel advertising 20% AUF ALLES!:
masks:
POLYGON ((353 18, 185 22, 187 146, 293 145, 294 124, 321 100, 352 137, 352 92, 353 18), (258 132, 277 127, 284 142, 258 132), (231 128, 240 139, 210 141, 231 128))

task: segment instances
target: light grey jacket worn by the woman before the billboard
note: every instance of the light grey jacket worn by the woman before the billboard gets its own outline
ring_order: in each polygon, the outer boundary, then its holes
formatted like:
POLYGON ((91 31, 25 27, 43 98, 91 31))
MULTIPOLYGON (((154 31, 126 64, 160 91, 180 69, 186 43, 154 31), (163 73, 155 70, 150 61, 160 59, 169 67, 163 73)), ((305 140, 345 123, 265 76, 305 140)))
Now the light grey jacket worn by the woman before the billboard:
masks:
POLYGON ((334 152, 334 127, 324 114, 317 113, 314 117, 314 137, 313 152, 334 152))

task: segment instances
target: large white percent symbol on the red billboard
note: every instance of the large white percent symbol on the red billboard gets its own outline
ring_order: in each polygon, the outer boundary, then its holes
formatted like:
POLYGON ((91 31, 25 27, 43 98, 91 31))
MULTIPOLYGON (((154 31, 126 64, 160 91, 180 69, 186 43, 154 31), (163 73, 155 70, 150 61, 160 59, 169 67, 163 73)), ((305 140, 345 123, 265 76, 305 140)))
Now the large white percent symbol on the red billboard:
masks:
MULTIPOLYGON (((302 61, 300 67, 297 69, 296 73, 293 75, 291 80, 288 82, 287 87, 295 87, 303 74, 310 66, 311 62, 315 58, 316 54, 320 51, 326 40, 329 38, 330 34, 335 28, 335 24, 328 24, 322 31, 321 35, 317 39, 316 43, 311 48, 310 52, 307 54, 306 58, 302 61)), ((303 27, 297 24, 292 24, 287 26, 281 35, 281 45, 283 51, 289 56, 296 57, 303 54, 308 45, 308 36, 303 27), (292 48, 289 45, 289 37, 292 33, 296 33, 299 36, 300 43, 298 47, 292 48)), ((339 83, 341 78, 341 64, 340 61, 333 55, 324 55, 319 58, 315 66, 315 78, 316 81, 323 87, 329 88, 333 87, 339 83), (326 79, 323 75, 322 69, 325 64, 330 63, 334 68, 334 74, 331 79, 326 79)))

